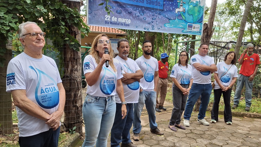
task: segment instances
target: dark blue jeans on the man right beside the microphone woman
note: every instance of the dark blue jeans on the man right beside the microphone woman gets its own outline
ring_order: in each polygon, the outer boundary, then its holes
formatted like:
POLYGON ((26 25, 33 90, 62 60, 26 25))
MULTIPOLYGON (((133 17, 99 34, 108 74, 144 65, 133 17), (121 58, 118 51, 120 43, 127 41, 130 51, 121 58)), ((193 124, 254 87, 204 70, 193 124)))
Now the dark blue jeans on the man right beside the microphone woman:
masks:
POLYGON ((120 143, 131 142, 130 130, 133 123, 133 103, 127 103, 127 115, 122 119, 122 104, 116 103, 116 114, 111 130, 111 147, 120 147, 120 143))

